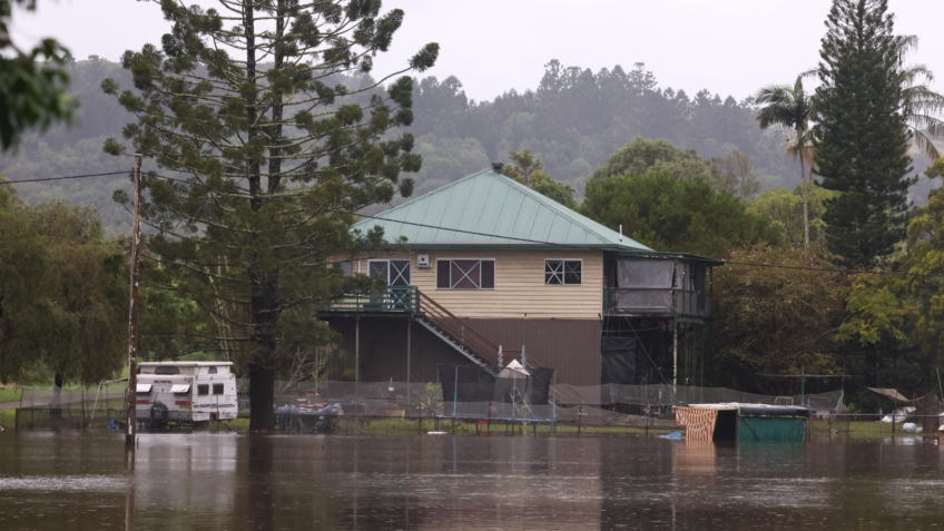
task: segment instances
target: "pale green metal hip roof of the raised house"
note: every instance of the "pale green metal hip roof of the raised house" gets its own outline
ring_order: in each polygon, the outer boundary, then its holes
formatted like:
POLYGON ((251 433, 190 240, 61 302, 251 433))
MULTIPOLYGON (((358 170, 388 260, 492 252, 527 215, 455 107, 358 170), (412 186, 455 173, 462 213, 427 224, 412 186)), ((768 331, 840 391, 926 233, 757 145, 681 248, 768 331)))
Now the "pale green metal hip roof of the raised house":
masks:
POLYGON ((417 248, 579 247, 652 250, 581 216, 493 169, 417 197, 354 225, 384 229, 387 242, 405 236, 417 248))

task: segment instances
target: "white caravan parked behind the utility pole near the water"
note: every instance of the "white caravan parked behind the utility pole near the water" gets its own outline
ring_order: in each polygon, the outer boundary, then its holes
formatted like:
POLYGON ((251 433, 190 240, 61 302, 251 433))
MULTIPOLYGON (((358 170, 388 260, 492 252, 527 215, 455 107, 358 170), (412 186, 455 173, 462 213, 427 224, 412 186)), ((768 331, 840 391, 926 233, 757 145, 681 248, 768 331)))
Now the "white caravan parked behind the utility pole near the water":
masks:
POLYGON ((138 422, 208 422, 236 419, 236 375, 230 362, 144 362, 138 364, 138 422))

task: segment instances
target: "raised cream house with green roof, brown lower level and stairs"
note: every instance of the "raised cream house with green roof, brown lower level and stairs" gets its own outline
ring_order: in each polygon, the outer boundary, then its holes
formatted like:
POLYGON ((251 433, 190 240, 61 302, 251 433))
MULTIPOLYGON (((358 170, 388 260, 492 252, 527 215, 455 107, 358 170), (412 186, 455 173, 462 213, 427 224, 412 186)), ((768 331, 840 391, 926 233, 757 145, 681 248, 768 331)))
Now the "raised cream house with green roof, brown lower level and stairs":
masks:
POLYGON ((571 385, 701 384, 720 263, 650 249, 500 170, 354 226, 378 225, 391 242, 345 264, 385 277, 385 293, 319 312, 358 361, 356 378, 431 382, 441 364, 514 358, 571 385))

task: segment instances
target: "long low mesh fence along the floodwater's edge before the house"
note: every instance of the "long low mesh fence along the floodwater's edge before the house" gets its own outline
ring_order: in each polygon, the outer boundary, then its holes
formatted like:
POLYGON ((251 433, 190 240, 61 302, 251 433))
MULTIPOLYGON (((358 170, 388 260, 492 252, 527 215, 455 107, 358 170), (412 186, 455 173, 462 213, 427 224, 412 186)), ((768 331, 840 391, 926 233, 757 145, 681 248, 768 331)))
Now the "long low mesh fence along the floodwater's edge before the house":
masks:
MULTIPOLYGON (((248 380, 237 380, 238 416, 247 417, 252 404, 248 380)), ((126 386, 121 384, 85 389, 26 389, 22 392, 17 427, 81 427, 124 416, 126 386)), ((448 393, 449 394, 449 393, 448 393)), ((490 395, 491 396, 491 395, 490 395)), ((577 426, 670 427, 672 405, 740 402, 755 404, 805 405, 814 415, 844 413, 843 392, 812 395, 773 396, 744 393, 722 387, 682 385, 589 386, 551 385, 547 404, 529 397, 453 401, 443 396, 443 387, 426 382, 276 381, 276 407, 307 407, 337 404, 353 417, 458 419, 466 422, 538 422, 577 426)))

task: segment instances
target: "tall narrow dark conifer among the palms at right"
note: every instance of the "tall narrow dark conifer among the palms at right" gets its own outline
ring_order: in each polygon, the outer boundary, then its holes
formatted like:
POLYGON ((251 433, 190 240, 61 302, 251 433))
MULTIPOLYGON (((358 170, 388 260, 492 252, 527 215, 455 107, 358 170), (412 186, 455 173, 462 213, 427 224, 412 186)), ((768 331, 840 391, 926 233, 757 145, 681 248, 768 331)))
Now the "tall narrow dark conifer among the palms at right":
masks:
POLYGON ((887 0, 834 0, 817 89, 826 245, 846 266, 865 266, 904 236, 909 135, 899 110, 901 37, 887 0))

